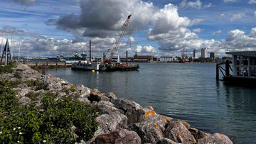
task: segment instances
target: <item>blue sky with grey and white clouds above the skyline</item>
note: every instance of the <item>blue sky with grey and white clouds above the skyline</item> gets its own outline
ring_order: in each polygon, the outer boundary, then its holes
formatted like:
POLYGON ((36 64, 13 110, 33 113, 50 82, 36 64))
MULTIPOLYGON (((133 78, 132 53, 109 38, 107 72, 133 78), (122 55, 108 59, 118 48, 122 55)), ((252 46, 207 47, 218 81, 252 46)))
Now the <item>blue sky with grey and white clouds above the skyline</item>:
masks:
POLYGON ((256 50, 256 0, 0 0, 0 47, 8 38, 14 56, 71 56, 88 53, 91 40, 100 57, 129 14, 121 57, 256 50))

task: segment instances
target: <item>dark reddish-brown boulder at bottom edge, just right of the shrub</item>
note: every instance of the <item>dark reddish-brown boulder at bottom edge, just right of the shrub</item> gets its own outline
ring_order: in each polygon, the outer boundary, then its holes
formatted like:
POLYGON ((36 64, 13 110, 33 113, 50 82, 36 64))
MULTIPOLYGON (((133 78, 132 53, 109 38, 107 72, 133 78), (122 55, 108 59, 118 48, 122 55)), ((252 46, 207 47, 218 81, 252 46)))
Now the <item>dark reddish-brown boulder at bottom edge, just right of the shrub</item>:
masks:
POLYGON ((106 133, 98 135, 95 138, 96 144, 141 144, 141 138, 134 131, 128 131, 126 129, 119 129, 117 131, 112 131, 111 133, 106 133))

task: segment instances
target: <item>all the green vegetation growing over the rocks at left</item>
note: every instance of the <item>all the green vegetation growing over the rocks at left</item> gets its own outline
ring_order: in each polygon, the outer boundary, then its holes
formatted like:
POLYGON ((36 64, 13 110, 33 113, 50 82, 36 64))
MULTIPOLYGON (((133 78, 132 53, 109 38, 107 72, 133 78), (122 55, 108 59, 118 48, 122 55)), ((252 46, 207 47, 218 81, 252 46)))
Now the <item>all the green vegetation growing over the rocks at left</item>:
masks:
MULTIPOLYGON (((12 68, 1 72, 13 72, 12 68)), ((15 73, 17 72, 17 73, 15 73)), ((16 78, 21 79, 21 75, 16 78)), ((96 106, 75 100, 72 95, 58 97, 58 93, 28 92, 32 100, 19 104, 18 84, 26 84, 36 91, 48 90, 40 79, 10 81, 0 79, 0 143, 75 143, 89 140, 97 131, 96 106)))

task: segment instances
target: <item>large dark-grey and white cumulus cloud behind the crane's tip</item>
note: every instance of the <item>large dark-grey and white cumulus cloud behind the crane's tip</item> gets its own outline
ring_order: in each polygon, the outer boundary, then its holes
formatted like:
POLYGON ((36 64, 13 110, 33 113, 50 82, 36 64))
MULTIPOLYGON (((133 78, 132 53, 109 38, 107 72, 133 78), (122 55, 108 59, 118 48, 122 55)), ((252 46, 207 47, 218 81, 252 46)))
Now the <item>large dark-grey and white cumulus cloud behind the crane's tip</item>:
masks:
MULTIPOLYGON (((83 0, 80 1, 80 8, 80 16, 70 14, 60 17, 56 22, 57 28, 80 33, 84 37, 106 38, 118 33, 129 14, 132 14, 132 18, 129 28, 127 28, 127 34, 144 30, 149 23, 154 25, 154 33, 156 33, 192 26, 203 21, 203 19, 190 20, 178 16, 177 7, 172 4, 167 4, 163 9, 159 9, 152 3, 142 0, 110 0, 107 2, 83 0)), ((52 21, 50 19, 49 23, 52 21)))

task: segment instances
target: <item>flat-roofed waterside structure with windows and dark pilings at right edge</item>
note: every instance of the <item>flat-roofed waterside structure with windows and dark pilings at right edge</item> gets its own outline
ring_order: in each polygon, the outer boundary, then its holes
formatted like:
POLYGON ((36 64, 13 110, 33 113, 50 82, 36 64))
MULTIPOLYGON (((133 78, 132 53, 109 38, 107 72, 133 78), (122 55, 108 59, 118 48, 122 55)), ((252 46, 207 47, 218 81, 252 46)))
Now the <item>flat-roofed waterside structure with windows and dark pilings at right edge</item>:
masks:
POLYGON ((216 65, 216 79, 222 80, 225 84, 256 87, 256 51, 226 52, 226 54, 232 55, 232 61, 226 60, 216 65), (225 68, 221 65, 225 65, 225 68), (223 74, 223 79, 219 79, 219 72, 223 74))

